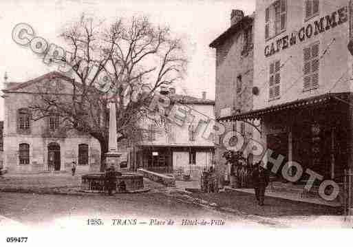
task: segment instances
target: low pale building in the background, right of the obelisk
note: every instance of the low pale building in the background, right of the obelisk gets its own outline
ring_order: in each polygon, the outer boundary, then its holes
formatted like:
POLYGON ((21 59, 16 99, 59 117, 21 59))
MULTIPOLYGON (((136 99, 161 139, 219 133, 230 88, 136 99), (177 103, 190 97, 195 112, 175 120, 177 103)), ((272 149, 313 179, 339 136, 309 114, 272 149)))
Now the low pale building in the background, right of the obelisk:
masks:
MULTIPOLYGON (((196 118, 214 119, 214 100, 175 94, 175 89, 166 93, 171 104, 179 104, 184 111, 196 118), (197 116, 198 115, 198 116, 197 116)), ((213 138, 204 138, 204 126, 195 125, 187 118, 182 125, 168 118, 160 118, 159 112, 146 111, 148 117, 141 125, 146 129, 144 140, 136 144, 129 155, 131 169, 144 168, 158 173, 190 174, 198 178, 200 172, 213 166, 215 145, 213 138), (156 120, 157 119, 157 120, 156 120)))

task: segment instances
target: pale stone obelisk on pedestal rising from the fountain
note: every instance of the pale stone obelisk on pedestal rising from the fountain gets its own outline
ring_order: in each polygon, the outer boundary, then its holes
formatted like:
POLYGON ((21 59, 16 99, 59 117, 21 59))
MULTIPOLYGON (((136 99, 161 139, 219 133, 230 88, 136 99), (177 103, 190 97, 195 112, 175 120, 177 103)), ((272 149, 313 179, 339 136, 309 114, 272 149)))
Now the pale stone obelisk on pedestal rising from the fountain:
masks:
POLYGON ((108 152, 105 153, 107 167, 113 165, 117 170, 120 170, 120 155, 121 153, 118 152, 118 133, 116 133, 116 105, 115 102, 112 101, 109 105, 108 152))

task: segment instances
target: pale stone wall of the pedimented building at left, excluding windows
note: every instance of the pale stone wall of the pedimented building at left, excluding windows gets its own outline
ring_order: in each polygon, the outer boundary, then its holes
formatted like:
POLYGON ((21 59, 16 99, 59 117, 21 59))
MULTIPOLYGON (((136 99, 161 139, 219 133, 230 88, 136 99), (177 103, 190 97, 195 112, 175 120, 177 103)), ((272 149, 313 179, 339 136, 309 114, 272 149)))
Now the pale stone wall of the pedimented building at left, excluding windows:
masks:
POLYGON ((78 144, 88 144, 89 165, 77 166, 76 172, 98 171, 100 144, 98 140, 70 131, 65 135, 47 136, 47 120, 31 121, 30 134, 17 133, 17 110, 28 107, 31 94, 5 93, 4 98, 4 160, 10 173, 38 173, 47 170, 47 145, 56 142, 61 147, 61 171, 71 171, 72 161, 78 163, 78 144), (30 144, 30 164, 19 165, 19 144, 30 144))

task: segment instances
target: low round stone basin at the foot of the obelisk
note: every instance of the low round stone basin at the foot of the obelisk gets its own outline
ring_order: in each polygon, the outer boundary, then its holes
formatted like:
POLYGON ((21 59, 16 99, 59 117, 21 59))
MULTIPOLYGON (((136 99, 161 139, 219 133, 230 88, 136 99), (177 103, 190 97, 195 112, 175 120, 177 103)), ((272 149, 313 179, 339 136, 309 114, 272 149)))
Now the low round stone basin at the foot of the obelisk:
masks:
MULTIPOLYGON (((81 191, 89 193, 107 193, 107 182, 105 173, 90 173, 81 177, 81 191)), ((146 192, 143 184, 143 175, 136 173, 116 172, 116 193, 138 193, 146 192), (122 190, 121 184, 125 184, 122 190)))

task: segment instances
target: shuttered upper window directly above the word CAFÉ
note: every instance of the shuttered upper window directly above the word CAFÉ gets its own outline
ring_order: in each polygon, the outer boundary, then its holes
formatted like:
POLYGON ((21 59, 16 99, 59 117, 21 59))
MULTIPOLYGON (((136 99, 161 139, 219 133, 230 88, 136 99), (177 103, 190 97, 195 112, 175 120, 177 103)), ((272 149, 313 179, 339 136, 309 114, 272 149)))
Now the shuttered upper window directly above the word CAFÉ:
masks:
POLYGON ((286 22, 286 0, 277 0, 265 10, 265 39, 270 39, 286 30, 286 22))

